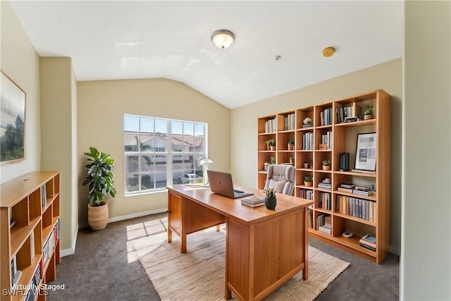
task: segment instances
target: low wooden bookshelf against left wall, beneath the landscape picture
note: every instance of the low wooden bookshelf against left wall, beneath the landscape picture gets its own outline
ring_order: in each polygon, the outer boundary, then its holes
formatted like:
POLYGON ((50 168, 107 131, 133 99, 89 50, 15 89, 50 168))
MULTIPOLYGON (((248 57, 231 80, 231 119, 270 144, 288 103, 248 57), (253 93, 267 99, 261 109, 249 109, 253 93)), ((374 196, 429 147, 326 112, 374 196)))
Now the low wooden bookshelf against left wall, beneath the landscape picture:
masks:
POLYGON ((0 186, 1 301, 47 299, 42 283, 56 279, 61 262, 59 189, 58 171, 29 173, 0 186))

